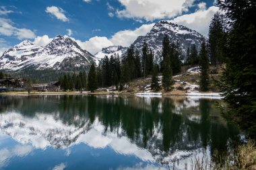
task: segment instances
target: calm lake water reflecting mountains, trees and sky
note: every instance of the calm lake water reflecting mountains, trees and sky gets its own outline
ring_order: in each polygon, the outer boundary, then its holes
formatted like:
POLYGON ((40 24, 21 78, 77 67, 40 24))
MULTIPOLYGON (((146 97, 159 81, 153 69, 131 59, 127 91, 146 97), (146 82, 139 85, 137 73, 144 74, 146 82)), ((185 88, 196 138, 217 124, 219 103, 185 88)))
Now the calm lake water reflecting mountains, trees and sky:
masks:
MULTIPOLYGON (((220 100, 219 100, 220 101, 220 100)), ((0 169, 183 169, 241 132, 214 99, 0 96, 0 169)))

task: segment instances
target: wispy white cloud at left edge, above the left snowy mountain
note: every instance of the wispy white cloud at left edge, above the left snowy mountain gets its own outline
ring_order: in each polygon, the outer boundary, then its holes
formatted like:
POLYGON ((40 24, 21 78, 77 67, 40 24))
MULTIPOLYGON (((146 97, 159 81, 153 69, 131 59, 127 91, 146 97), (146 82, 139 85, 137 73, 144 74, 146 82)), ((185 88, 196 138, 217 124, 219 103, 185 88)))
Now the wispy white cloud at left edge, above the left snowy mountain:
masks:
POLYGON ((26 28, 16 28, 10 19, 0 17, 0 35, 15 36, 19 40, 24 38, 35 38, 36 35, 32 30, 26 28))

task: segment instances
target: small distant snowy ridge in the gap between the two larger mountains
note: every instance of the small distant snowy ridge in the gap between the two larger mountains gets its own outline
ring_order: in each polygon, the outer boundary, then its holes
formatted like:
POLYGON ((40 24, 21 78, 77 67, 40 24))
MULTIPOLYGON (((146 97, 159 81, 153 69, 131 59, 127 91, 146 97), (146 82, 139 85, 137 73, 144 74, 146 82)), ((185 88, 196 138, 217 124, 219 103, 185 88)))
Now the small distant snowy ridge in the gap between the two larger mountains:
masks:
POLYGON ((123 47, 123 46, 108 46, 107 48, 102 48, 100 52, 97 52, 95 54, 95 57, 102 59, 105 56, 108 56, 108 58, 112 55, 122 56, 126 52, 126 50, 127 50, 127 47, 123 47))

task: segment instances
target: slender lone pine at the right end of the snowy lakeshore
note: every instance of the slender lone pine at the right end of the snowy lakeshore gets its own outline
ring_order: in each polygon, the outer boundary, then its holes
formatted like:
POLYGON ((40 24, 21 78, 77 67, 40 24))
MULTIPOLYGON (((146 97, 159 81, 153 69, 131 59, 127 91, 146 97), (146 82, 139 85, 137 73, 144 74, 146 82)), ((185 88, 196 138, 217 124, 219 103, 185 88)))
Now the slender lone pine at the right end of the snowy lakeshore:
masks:
POLYGON ((201 51, 199 54, 200 57, 200 67, 201 67, 201 75, 200 75, 200 89, 201 91, 209 90, 209 60, 207 56, 207 49, 205 45, 205 40, 203 40, 201 44, 201 51))

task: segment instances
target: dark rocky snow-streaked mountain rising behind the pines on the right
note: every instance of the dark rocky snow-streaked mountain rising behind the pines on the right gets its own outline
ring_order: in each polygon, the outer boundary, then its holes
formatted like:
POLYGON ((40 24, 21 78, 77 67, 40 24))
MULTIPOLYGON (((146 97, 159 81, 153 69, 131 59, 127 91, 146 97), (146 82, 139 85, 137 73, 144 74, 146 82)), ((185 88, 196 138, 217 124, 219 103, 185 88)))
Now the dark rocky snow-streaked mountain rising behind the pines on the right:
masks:
POLYGON ((173 24, 172 22, 160 21, 154 25, 146 36, 139 36, 135 42, 133 42, 133 45, 135 48, 141 50, 143 42, 146 41, 149 48, 154 52, 156 60, 159 62, 162 53, 162 40, 165 35, 167 35, 172 42, 179 42, 183 56, 185 56, 187 48, 191 46, 191 44, 195 44, 197 49, 199 49, 203 40, 203 36, 195 30, 173 24))

